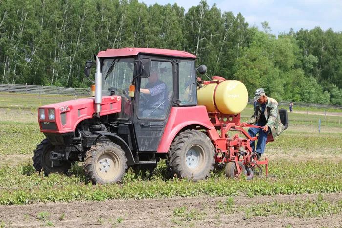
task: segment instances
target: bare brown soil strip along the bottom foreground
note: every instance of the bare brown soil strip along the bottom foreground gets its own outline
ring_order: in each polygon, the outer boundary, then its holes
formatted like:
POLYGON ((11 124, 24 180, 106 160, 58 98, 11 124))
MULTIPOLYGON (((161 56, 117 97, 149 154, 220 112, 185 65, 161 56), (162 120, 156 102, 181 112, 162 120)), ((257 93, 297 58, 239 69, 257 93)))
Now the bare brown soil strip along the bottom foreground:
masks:
MULTIPOLYGON (((234 197, 235 207, 250 206, 251 202, 265 203, 301 199, 316 199, 317 195, 277 195, 255 198, 234 197)), ((0 221, 10 227, 41 227, 46 222, 39 221, 37 214, 49 212, 49 220, 55 227, 178 227, 174 222, 173 209, 187 207, 205 213, 203 220, 183 221, 180 227, 341 227, 342 216, 332 215, 318 218, 294 218, 284 216, 251 217, 246 219, 244 211, 235 209, 227 215, 217 209, 218 202, 225 202, 227 197, 213 198, 175 198, 152 200, 108 200, 105 202, 49 203, 24 206, 0 206, 0 221), (60 220, 65 213, 64 220, 60 220), (218 214, 221 214, 218 216, 218 214), (119 222, 118 222, 119 221, 119 222)), ((325 200, 336 202, 342 199, 340 194, 325 194, 325 200)))

